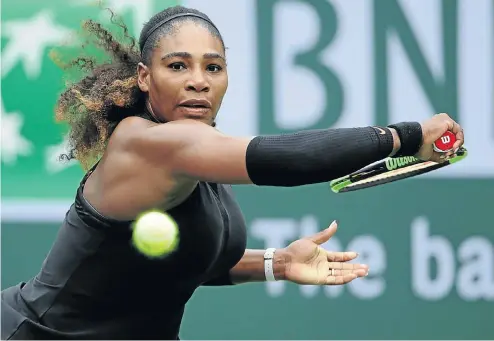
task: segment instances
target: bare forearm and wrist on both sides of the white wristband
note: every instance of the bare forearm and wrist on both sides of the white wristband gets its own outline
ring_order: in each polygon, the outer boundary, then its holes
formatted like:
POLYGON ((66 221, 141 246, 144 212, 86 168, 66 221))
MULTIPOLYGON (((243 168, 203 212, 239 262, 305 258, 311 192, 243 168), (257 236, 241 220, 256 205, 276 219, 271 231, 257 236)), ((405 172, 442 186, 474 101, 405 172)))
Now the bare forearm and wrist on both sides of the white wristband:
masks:
MULTIPOLYGON (((230 270, 230 278, 234 284, 246 282, 264 282, 264 252, 265 250, 245 250, 244 256, 230 270)), ((284 280, 286 267, 289 264, 287 254, 283 249, 277 249, 273 259, 273 272, 277 280, 284 280)))

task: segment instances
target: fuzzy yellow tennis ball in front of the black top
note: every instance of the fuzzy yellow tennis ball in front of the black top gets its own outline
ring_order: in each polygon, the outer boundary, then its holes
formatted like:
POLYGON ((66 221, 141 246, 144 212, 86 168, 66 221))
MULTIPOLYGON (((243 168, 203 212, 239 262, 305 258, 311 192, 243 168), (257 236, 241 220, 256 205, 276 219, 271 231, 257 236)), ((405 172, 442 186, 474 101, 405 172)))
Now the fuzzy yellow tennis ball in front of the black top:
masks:
POLYGON ((175 250, 178 240, 178 225, 166 213, 146 212, 134 222, 132 241, 137 250, 145 256, 163 257, 175 250))

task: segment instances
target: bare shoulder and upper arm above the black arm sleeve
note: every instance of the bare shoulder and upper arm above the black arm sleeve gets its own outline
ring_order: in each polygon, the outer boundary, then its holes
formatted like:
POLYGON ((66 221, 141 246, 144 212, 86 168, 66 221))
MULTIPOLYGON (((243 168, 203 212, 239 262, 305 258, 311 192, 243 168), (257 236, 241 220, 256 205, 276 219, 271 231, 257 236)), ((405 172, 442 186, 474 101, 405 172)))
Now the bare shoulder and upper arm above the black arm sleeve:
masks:
POLYGON ((109 150, 166 170, 173 177, 250 183, 245 157, 251 138, 228 136, 192 119, 156 124, 138 117, 122 121, 109 150), (135 158, 134 158, 135 157, 135 158))

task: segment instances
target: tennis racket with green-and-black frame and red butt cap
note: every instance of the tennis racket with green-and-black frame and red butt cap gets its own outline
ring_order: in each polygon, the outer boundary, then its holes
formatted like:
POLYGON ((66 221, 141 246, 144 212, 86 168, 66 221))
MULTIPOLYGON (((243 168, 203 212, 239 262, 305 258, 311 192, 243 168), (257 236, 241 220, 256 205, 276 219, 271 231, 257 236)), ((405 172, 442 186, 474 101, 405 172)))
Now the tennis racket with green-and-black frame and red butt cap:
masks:
MULTIPOLYGON (((434 149, 439 152, 449 151, 455 141, 454 135, 447 132, 434 143, 434 149)), ((389 157, 331 181, 330 187, 335 193, 344 193, 379 186, 447 167, 463 160, 467 154, 466 148, 461 147, 447 161, 442 163, 422 161, 413 156, 389 157)))

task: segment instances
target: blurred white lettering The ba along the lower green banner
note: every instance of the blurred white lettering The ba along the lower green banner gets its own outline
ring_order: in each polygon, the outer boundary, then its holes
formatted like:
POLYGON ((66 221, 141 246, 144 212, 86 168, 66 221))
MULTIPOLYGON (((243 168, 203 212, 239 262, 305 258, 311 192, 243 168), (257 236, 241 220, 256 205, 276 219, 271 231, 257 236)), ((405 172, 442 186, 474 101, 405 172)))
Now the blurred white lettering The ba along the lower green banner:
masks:
MULTIPOLYGON (((264 242, 264 247, 282 248, 297 238, 317 233, 322 228, 315 216, 300 219, 259 218, 250 228, 251 236, 264 242)), ((437 301, 449 297, 454 288, 465 301, 494 301, 494 245, 487 237, 472 236, 462 241, 456 251, 444 236, 430 232, 429 221, 417 217, 411 223, 411 287, 413 295, 425 301, 437 301), (457 261, 456 261, 457 259, 457 261), (431 263, 436 271, 431 272, 431 263)), ((368 264, 369 276, 359 278, 344 286, 299 286, 305 298, 318 297, 321 292, 328 298, 341 296, 345 290, 360 300, 377 299, 385 294, 387 251, 381 240, 373 235, 356 235, 344 247, 333 236, 322 245, 331 251, 356 251, 359 263, 368 264)), ((353 261, 352 261, 353 262, 353 261)), ((393 274, 389 274, 393 276, 393 274)), ((265 283, 270 297, 285 294, 285 282, 265 283)))

